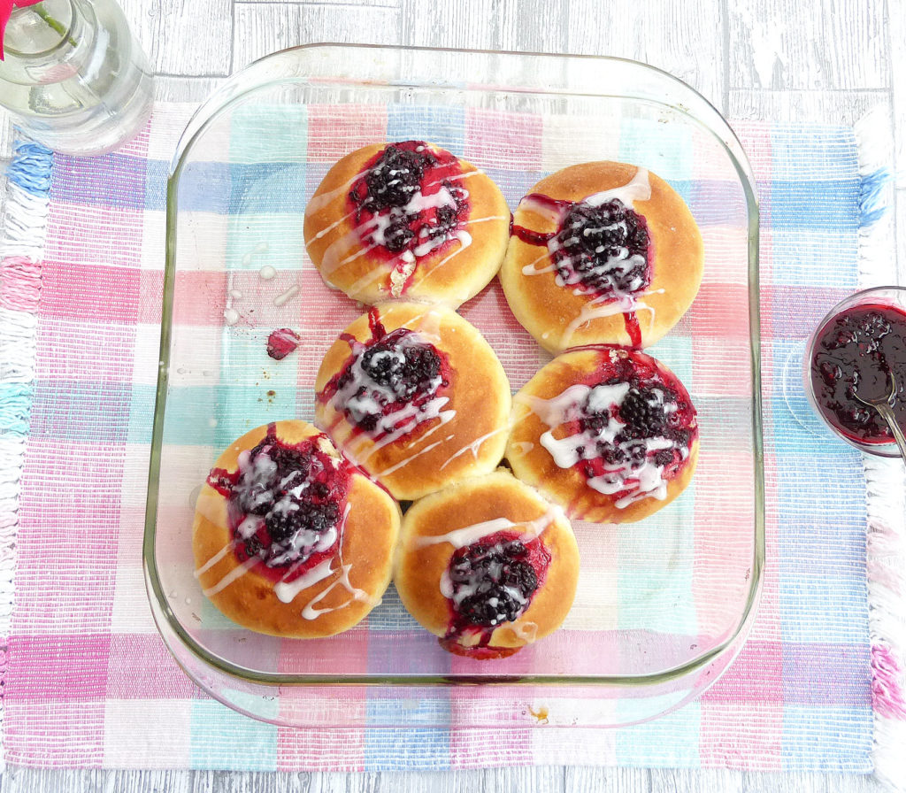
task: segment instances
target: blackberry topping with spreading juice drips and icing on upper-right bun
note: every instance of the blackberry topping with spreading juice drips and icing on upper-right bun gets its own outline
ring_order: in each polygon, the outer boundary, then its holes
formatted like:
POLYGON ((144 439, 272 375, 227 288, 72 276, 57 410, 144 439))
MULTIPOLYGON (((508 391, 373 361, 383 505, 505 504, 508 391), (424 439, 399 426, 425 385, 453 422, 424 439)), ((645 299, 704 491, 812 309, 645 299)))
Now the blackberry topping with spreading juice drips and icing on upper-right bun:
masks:
MULTIPOLYGON (((631 200, 650 194, 647 171, 641 170, 629 185, 583 201, 530 193, 522 203, 556 228, 540 232, 515 225, 512 229, 512 235, 527 245, 547 248, 558 286, 572 287, 574 294, 591 299, 593 308, 583 311, 582 322, 609 314, 602 306, 615 304, 622 309, 626 333, 635 347, 641 347, 641 327, 634 306, 651 285, 653 256, 648 224, 632 208, 631 200)), ((524 272, 540 274, 548 269, 525 268, 524 272)))

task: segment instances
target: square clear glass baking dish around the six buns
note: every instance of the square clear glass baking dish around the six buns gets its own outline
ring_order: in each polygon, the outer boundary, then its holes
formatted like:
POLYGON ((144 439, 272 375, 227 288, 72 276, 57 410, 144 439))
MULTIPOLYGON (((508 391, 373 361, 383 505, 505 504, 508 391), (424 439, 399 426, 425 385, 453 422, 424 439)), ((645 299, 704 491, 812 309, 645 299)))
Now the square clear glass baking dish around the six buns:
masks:
MULTIPOLYGON (((298 726, 605 726, 704 691, 744 639, 764 565, 753 184, 718 112, 640 63, 332 44, 236 74, 188 123, 167 195, 144 562, 160 632, 188 674, 238 711, 298 726), (698 407, 696 476, 639 524, 576 524, 583 567, 571 614, 504 660, 440 650, 392 585, 366 623, 300 641, 230 623, 192 575, 194 499, 218 453, 267 421, 311 420, 321 357, 361 313, 313 270, 305 201, 348 151, 410 139, 485 169, 511 208, 566 165, 645 166, 686 198, 705 240, 699 297, 651 348, 698 407), (283 326, 303 342, 277 363, 265 341, 283 326)), ((508 310, 495 281, 461 313, 515 391, 549 356, 506 330, 508 310)))

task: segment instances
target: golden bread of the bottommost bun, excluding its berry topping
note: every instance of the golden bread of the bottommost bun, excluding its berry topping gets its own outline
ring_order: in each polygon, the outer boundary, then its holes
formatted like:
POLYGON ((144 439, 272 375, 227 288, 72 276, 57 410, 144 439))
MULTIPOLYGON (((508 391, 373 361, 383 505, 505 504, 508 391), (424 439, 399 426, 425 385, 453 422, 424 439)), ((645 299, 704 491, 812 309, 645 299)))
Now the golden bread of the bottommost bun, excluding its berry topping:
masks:
MULTIPOLYGON (((514 478, 509 471, 498 469, 485 477, 457 482, 420 499, 403 518, 394 584, 403 605, 431 633, 440 637, 448 635, 451 606, 441 594, 440 579, 456 548, 448 541, 424 544, 419 538, 439 537, 499 518, 519 525, 512 529, 516 534, 529 532, 531 527, 525 524, 535 521, 551 561, 525 612, 515 622, 506 622, 494 629, 488 646, 523 647, 553 633, 569 613, 579 575, 579 549, 573 528, 560 508, 514 478)), ((478 636, 464 634, 458 641, 465 646, 474 646, 478 636)))

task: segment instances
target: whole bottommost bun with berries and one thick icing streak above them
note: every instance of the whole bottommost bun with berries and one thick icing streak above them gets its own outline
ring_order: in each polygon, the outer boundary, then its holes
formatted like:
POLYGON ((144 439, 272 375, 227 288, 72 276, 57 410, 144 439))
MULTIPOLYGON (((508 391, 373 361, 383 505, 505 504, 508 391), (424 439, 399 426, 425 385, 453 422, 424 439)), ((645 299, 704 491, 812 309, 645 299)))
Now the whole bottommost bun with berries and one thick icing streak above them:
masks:
POLYGON ((410 507, 394 583, 445 649, 488 659, 554 632, 573 605, 578 575, 563 510, 499 469, 410 507))

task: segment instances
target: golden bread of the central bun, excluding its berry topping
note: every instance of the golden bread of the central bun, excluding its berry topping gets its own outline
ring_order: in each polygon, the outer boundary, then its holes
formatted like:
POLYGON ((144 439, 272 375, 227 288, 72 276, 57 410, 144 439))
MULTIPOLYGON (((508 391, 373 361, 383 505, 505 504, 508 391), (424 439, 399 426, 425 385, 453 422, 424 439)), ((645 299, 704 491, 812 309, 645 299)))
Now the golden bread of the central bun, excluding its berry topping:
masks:
POLYGON ((386 303, 362 314, 327 351, 314 388, 315 423, 346 457, 400 500, 420 498, 457 479, 490 472, 503 457, 511 405, 506 372, 477 329, 443 306, 386 303), (324 392, 352 360, 350 343, 344 339, 371 340, 375 319, 388 334, 405 326, 447 355, 450 381, 437 395, 448 397, 441 408, 446 418, 454 411, 442 426, 441 419, 429 418, 383 446, 380 437, 372 440, 346 417, 343 405, 335 406, 333 395, 324 392))

